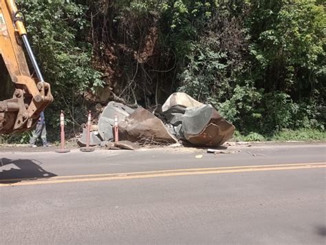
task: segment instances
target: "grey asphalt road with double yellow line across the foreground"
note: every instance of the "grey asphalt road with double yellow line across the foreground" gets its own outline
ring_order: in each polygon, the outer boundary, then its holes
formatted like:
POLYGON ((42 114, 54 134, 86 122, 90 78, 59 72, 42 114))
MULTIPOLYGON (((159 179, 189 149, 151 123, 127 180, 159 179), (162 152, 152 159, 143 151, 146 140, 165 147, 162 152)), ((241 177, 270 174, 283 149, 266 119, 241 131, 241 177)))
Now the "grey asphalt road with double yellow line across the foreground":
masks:
POLYGON ((325 149, 1 151, 0 244, 325 244, 325 149))

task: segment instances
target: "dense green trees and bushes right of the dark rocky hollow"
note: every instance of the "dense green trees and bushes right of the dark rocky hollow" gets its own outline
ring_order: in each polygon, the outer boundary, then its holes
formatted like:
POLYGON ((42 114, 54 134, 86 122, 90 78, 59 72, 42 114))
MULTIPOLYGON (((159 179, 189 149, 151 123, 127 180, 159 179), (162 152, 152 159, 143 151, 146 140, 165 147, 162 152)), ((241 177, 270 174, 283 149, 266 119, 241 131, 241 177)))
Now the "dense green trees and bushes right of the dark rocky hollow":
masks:
POLYGON ((246 134, 323 130, 325 21, 316 1, 220 3, 196 30, 179 89, 246 134))

